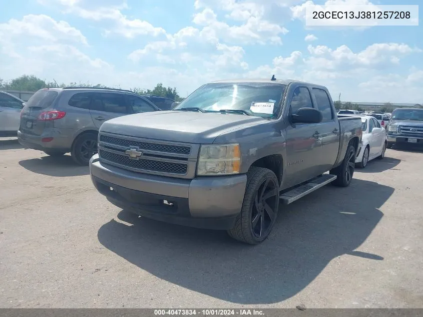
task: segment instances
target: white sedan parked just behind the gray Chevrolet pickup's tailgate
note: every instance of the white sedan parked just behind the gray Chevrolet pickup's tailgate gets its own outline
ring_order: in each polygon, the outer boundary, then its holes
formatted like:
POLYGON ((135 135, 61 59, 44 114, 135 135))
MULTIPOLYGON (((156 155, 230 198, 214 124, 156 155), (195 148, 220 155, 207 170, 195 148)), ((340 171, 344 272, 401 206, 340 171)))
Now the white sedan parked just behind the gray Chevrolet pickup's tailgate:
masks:
POLYGON ((362 144, 357 150, 355 164, 366 167, 368 161, 378 158, 383 159, 386 151, 386 130, 373 116, 361 117, 363 130, 362 144))

